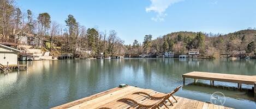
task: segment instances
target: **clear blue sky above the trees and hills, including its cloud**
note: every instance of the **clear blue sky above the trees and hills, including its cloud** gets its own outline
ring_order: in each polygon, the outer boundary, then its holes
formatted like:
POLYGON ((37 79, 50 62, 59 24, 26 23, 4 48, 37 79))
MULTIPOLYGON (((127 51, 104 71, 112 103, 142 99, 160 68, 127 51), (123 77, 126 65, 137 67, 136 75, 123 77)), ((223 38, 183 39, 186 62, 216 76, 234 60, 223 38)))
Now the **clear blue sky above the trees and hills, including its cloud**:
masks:
POLYGON ((225 34, 256 27, 255 0, 19 0, 17 6, 35 17, 48 12, 63 25, 72 14, 86 28, 116 30, 125 44, 147 34, 156 39, 175 31, 225 34))

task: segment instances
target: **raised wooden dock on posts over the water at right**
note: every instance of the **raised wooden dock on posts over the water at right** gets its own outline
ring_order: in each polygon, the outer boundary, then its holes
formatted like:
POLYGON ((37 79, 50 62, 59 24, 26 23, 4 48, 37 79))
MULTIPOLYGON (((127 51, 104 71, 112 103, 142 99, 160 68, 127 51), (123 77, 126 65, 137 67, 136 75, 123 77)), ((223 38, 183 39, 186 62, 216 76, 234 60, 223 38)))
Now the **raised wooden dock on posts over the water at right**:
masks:
POLYGON ((235 75, 235 74, 222 74, 222 73, 209 73, 209 72, 190 72, 182 75, 183 85, 185 85, 186 78, 194 79, 196 83, 198 79, 210 80, 210 85, 214 86, 214 81, 232 82, 237 83, 238 88, 242 88, 242 84, 255 85, 256 76, 249 75, 235 75))

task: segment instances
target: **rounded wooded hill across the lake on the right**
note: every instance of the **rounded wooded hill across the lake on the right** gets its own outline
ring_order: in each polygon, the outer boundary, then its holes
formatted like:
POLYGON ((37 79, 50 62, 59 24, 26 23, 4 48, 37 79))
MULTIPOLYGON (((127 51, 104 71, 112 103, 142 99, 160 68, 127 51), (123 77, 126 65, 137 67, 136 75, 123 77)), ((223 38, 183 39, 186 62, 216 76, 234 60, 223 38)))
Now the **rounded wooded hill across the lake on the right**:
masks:
POLYGON ((141 47, 133 45, 127 46, 133 54, 163 54, 164 52, 174 52, 176 55, 187 54, 189 50, 199 50, 206 56, 219 57, 220 54, 229 54, 234 50, 246 50, 247 55, 254 55, 256 30, 240 30, 229 34, 206 34, 191 31, 179 31, 166 34, 152 40, 146 35, 141 47), (135 51, 139 51, 135 52, 135 51))

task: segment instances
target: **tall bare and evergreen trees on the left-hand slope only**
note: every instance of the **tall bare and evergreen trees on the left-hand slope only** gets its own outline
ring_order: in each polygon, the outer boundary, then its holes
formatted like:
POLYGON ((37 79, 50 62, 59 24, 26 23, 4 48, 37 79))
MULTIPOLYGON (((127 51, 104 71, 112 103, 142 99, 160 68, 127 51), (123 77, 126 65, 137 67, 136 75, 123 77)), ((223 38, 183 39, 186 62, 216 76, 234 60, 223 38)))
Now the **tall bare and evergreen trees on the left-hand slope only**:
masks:
POLYGON ((115 30, 102 32, 97 28, 86 28, 76 21, 73 15, 68 15, 66 25, 51 21, 47 12, 38 15, 31 10, 22 12, 15 6, 14 0, 0 0, 0 37, 2 42, 9 39, 13 30, 34 34, 41 41, 50 41, 48 46, 41 43, 41 49, 56 50, 53 44, 61 47, 57 52, 73 53, 75 56, 95 56, 104 53, 105 56, 124 54, 124 41, 115 30))

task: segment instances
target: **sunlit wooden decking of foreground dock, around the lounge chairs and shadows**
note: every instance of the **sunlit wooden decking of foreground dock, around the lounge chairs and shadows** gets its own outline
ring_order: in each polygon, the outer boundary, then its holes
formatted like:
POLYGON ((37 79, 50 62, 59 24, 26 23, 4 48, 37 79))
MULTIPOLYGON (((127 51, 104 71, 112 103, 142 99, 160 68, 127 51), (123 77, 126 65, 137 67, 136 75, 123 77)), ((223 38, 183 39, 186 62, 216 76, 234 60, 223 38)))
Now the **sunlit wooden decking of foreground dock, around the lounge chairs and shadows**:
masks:
MULTIPOLYGON (((133 104, 132 102, 116 102, 116 100, 124 97, 136 97, 136 95, 131 95, 134 92, 142 91, 142 88, 139 87, 133 87, 128 86, 124 88, 113 88, 108 91, 98 93, 95 95, 91 95, 90 97, 86 97, 80 100, 76 100, 73 102, 69 102, 67 104, 54 107, 55 108, 70 108, 70 109, 78 109, 78 108, 99 108, 101 106, 110 106, 111 108, 129 108, 129 107, 135 107, 138 108, 137 105, 133 104)), ((155 91, 148 90, 148 93, 155 94, 155 91)), ((159 92, 157 92, 159 93, 159 92)), ((175 102, 175 100, 170 97, 170 100, 173 102, 174 106, 170 105, 169 101, 165 102, 165 104, 168 106, 168 108, 197 108, 197 109, 210 109, 210 108, 225 108, 224 106, 218 106, 213 104, 207 104, 205 102, 197 101, 197 100, 191 100, 187 98, 177 97, 175 96, 178 102, 175 102)), ((142 99, 145 99, 145 97, 138 96, 135 98, 136 100, 140 101, 142 99)), ((146 103, 147 101, 140 101, 142 103, 146 103)), ((150 101, 152 102, 152 101, 150 101)), ((145 108, 145 107, 140 107, 145 108)), ((166 108, 164 105, 160 106, 160 109, 166 108)))

